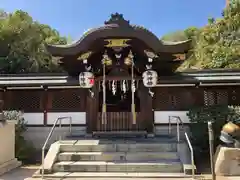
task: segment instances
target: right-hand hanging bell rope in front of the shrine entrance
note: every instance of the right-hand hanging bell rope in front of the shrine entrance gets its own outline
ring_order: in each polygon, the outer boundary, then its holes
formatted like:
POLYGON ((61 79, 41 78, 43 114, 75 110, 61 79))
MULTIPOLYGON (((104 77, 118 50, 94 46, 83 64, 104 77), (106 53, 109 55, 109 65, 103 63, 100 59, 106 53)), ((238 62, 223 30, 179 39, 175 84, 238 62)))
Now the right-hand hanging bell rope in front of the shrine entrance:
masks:
POLYGON ((132 74, 132 123, 136 124, 136 109, 135 109, 135 98, 134 98, 134 92, 135 92, 135 80, 134 80, 134 61, 133 61, 133 54, 132 51, 129 52, 129 58, 132 61, 132 67, 131 67, 131 74, 132 74))

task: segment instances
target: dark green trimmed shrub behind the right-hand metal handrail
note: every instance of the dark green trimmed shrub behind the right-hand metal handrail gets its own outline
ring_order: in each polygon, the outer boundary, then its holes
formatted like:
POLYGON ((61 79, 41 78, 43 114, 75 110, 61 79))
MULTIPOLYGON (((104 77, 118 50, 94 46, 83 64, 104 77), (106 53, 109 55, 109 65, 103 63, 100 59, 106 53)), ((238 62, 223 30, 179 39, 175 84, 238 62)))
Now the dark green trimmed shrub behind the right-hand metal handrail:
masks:
POLYGON ((217 147, 221 143, 219 136, 223 125, 228 121, 239 119, 239 112, 239 107, 220 105, 195 107, 189 110, 187 116, 191 122, 191 142, 196 158, 209 153, 207 122, 213 123, 214 147, 217 147))

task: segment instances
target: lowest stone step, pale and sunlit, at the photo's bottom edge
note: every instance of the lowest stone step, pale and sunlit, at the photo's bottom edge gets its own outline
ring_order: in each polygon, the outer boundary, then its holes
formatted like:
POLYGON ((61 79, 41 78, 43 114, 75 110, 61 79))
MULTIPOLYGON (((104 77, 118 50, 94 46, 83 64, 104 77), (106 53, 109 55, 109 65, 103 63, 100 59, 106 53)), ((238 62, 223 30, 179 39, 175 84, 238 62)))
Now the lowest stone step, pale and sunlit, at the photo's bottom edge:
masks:
MULTIPOLYGON (((71 178, 76 180, 77 178, 98 178, 102 180, 105 180, 106 178, 109 178, 112 180, 112 178, 187 178, 190 177, 189 175, 185 175, 184 173, 159 173, 159 172, 152 172, 152 173, 139 173, 139 172, 55 172, 52 174, 46 174, 44 175, 45 178, 71 178)), ((41 174, 39 172, 35 173, 33 175, 33 178, 41 178, 41 174)), ((132 180, 132 179, 131 179, 132 180)))

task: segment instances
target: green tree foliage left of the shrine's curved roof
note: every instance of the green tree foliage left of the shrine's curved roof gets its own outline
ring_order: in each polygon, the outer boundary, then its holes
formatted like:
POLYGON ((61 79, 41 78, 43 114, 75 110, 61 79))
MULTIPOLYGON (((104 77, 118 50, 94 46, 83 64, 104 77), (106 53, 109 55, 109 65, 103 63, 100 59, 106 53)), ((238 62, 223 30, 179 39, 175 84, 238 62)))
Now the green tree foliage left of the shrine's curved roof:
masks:
POLYGON ((65 37, 23 11, 0 16, 0 73, 62 71, 44 44, 66 44, 65 37))

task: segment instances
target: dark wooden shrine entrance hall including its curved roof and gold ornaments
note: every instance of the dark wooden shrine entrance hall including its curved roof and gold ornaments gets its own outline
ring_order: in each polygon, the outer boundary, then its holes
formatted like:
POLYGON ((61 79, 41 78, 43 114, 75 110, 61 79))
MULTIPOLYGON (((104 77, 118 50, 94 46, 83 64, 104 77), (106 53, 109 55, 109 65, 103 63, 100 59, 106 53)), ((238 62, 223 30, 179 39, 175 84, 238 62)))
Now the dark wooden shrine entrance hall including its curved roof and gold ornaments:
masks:
POLYGON ((86 100, 88 132, 153 133, 151 90, 144 86, 142 74, 151 69, 159 76, 171 75, 190 45, 190 41, 164 44, 116 13, 76 43, 48 45, 47 49, 61 57, 61 65, 71 76, 87 71, 95 77, 86 100))

